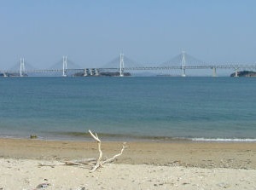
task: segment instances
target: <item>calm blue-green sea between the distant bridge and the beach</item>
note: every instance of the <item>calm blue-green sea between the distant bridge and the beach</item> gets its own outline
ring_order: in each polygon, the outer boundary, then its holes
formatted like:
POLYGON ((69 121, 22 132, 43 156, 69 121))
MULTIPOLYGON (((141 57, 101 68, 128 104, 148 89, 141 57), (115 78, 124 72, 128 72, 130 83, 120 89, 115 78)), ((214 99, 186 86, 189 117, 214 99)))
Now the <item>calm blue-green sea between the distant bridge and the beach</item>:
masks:
POLYGON ((256 141, 256 78, 0 78, 0 137, 256 141))

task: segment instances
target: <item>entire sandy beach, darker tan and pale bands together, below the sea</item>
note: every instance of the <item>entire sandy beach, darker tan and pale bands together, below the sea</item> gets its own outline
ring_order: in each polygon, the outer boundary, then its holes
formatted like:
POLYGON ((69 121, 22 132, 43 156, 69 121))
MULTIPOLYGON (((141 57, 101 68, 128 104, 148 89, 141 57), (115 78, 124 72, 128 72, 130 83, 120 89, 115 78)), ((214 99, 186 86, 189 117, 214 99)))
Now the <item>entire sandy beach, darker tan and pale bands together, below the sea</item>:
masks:
MULTIPOLYGON (((102 142, 103 158, 122 142, 102 142)), ((256 189, 256 143, 127 142, 90 173, 59 164, 97 158, 95 141, 0 139, 0 189, 256 189)))

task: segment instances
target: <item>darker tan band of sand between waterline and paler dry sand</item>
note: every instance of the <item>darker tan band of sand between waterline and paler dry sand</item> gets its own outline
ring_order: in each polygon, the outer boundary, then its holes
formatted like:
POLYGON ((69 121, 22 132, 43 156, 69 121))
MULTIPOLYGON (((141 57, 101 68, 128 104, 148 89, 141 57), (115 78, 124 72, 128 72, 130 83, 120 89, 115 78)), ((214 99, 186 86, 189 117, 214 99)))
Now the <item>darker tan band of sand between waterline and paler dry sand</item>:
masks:
MULTIPOLYGON (((117 164, 182 165, 256 169, 255 142, 127 142, 117 164)), ((103 158, 118 153, 122 142, 102 142, 103 158)), ((0 157, 46 160, 97 158, 96 141, 0 139, 0 157)))

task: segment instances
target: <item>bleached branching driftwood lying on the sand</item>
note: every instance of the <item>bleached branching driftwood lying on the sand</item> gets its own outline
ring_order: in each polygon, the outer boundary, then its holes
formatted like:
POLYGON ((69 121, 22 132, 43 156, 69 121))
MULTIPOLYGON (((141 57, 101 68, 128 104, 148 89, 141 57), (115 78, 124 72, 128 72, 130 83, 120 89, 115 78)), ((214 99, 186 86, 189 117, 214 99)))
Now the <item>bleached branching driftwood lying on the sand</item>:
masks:
POLYGON ((40 167, 41 166, 55 167, 57 165, 77 165, 80 167, 87 166, 87 167, 90 167, 90 169, 91 169, 90 172, 94 172, 95 170, 103 167, 104 164, 111 163, 116 158, 121 156, 125 150, 125 147, 127 147, 127 146, 125 146, 125 142, 124 142, 120 153, 115 154, 113 156, 113 158, 107 158, 105 160, 102 160, 102 141, 99 139, 97 134, 93 134, 90 130, 89 130, 89 133, 97 141, 98 151, 99 151, 99 157, 97 159, 96 158, 85 158, 82 160, 71 160, 71 161, 66 161, 63 163, 56 163, 56 164, 39 164, 38 166, 40 166, 40 167))

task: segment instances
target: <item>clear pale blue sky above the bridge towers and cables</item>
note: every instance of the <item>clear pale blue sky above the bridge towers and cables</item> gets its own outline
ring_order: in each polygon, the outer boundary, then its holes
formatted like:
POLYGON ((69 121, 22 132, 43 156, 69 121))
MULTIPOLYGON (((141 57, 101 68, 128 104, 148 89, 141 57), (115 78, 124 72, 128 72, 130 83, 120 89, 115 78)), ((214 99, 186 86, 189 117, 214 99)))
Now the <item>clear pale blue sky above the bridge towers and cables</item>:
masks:
POLYGON ((255 0, 0 0, 0 69, 67 55, 102 66, 120 51, 160 64, 181 53, 256 63, 255 0))

